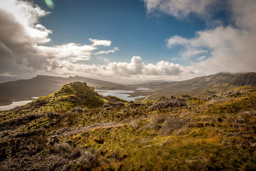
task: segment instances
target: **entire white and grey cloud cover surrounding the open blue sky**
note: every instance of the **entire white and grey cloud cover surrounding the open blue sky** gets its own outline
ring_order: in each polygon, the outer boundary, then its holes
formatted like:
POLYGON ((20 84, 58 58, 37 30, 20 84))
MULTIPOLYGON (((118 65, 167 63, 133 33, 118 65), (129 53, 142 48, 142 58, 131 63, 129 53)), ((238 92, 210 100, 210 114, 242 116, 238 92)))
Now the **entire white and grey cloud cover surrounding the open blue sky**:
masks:
MULTIPOLYGON (((144 0, 148 13, 166 13, 177 19, 191 14, 209 15, 207 10, 216 6, 213 0, 144 0)), ((29 77, 36 74, 79 75, 97 78, 138 78, 182 80, 219 71, 256 71, 256 1, 229 0, 234 24, 198 31, 195 38, 174 35, 166 41, 166 47, 182 47, 179 59, 189 61, 188 66, 159 61, 146 64, 134 56, 129 63, 109 61, 105 55, 111 41, 90 38, 89 45, 67 43, 45 46, 51 41, 51 30, 39 23, 49 13, 27 1, 3 0, 0 4, 0 75, 29 77), (86 64, 98 57, 106 64, 86 64), (84 63, 81 63, 84 61, 84 63)), ((212 8, 214 9, 214 8, 212 8)), ((157 34, 157 33, 156 33, 157 34)), ((164 40, 163 40, 164 41, 164 40)), ((115 80, 115 79, 114 79, 115 80)))

